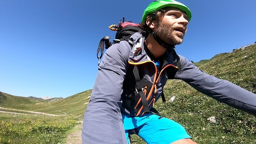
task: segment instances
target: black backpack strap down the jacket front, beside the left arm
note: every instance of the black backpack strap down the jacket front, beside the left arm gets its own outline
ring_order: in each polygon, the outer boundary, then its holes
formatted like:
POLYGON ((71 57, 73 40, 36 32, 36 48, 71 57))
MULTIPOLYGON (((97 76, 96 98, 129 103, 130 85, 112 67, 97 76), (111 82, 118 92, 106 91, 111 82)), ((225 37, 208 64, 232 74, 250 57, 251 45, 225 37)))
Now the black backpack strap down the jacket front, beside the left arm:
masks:
POLYGON ((139 70, 138 70, 138 66, 134 65, 133 67, 133 74, 135 76, 135 80, 136 80, 136 90, 139 93, 139 96, 141 96, 141 101, 142 101, 142 105, 143 105, 143 109, 145 113, 149 113, 149 107, 148 107, 148 101, 146 100, 146 96, 143 93, 143 86, 141 83, 141 77, 139 76, 139 70))

